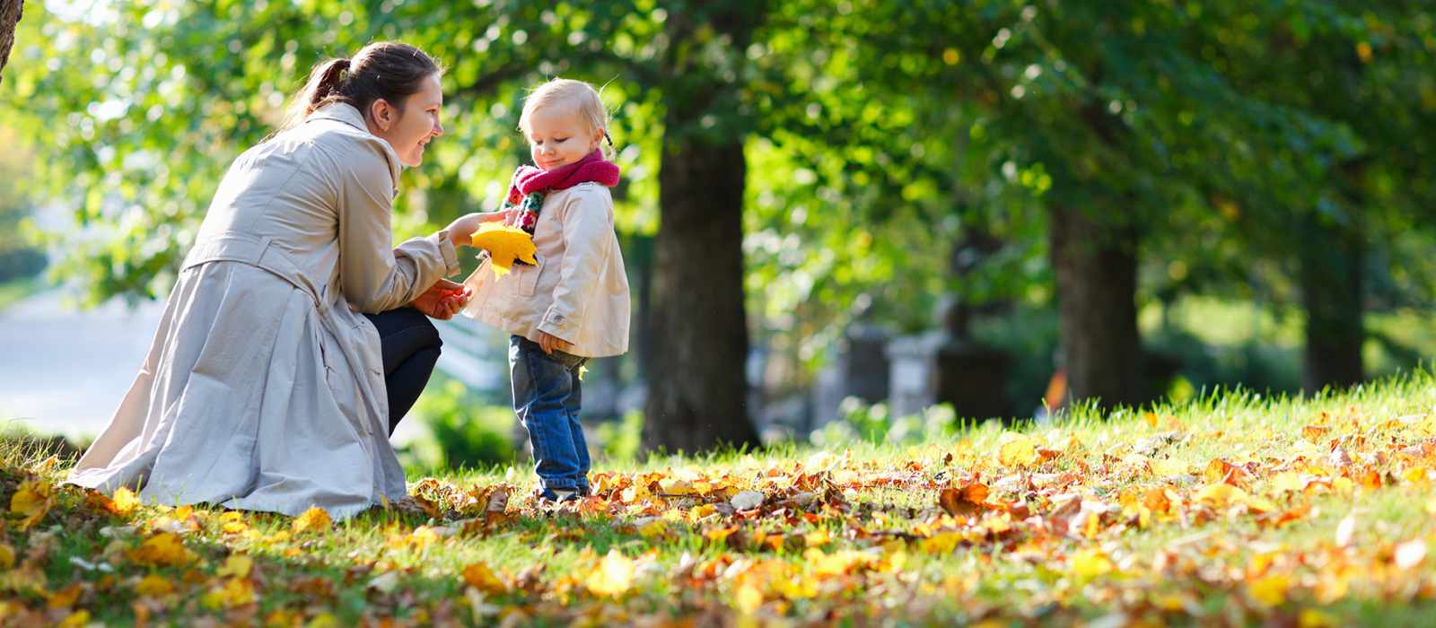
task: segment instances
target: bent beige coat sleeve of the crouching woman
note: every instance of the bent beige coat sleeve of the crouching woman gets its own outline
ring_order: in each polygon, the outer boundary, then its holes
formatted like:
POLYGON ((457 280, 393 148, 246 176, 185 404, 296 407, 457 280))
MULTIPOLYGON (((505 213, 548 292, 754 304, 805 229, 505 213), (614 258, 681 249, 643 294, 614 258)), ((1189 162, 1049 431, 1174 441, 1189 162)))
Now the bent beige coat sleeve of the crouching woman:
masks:
POLYGON ((366 314, 402 307, 441 277, 458 272, 458 255, 447 231, 389 248, 398 169, 379 142, 358 142, 358 155, 340 165, 339 282, 345 300, 366 314))

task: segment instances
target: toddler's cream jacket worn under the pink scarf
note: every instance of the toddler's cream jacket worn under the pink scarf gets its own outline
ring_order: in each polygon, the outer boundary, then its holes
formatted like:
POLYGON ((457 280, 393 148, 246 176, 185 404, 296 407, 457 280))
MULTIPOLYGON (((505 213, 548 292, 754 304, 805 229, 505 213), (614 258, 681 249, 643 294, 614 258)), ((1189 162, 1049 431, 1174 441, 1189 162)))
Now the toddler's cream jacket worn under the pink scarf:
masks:
POLYGON ((497 280, 493 262, 478 267, 464 281, 474 291, 464 315, 534 341, 547 331, 574 356, 628 351, 628 274, 609 189, 579 184, 546 196, 534 247, 537 265, 514 264, 497 280))

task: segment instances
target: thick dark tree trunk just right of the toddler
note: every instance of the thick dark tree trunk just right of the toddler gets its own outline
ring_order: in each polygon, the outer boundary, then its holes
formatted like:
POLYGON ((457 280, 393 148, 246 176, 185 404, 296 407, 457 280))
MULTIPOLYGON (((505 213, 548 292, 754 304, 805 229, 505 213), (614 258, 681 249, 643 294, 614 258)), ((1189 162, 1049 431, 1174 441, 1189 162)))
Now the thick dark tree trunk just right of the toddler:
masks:
POLYGON ((744 403, 742 145, 689 139, 673 118, 658 173, 643 449, 758 446, 744 403))

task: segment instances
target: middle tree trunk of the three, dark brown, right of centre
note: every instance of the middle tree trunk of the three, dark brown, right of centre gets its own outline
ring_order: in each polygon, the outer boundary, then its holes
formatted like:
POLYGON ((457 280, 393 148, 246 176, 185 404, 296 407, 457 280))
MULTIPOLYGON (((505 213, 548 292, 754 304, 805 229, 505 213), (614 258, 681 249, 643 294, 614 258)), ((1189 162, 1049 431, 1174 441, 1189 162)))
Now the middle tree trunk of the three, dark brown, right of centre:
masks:
POLYGON ((1103 407, 1149 400, 1137 333, 1137 237, 1051 208, 1051 262, 1068 399, 1103 407))

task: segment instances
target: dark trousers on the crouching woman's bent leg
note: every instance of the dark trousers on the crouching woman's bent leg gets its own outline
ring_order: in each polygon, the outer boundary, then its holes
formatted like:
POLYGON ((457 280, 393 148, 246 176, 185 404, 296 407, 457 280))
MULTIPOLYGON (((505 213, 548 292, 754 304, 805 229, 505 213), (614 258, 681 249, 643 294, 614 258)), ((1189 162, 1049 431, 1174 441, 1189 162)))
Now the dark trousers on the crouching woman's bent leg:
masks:
POLYGON ((411 307, 365 317, 379 330, 383 347, 383 386, 389 396, 389 436, 393 436, 399 419, 408 414, 429 383, 444 341, 429 317, 411 307))

